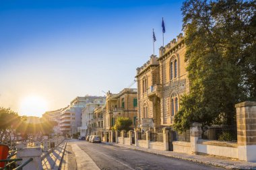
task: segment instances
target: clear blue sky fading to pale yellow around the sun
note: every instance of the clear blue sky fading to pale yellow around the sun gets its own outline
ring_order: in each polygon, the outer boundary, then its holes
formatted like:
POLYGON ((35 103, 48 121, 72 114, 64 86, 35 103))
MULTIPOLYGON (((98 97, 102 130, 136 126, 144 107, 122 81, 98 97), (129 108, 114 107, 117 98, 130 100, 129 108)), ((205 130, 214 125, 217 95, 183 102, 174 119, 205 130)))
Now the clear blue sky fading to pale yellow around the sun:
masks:
POLYGON ((182 32, 181 6, 172 0, 1 0, 0 107, 40 116, 77 96, 129 87, 153 54, 153 28, 159 53, 162 17, 165 45, 182 32))

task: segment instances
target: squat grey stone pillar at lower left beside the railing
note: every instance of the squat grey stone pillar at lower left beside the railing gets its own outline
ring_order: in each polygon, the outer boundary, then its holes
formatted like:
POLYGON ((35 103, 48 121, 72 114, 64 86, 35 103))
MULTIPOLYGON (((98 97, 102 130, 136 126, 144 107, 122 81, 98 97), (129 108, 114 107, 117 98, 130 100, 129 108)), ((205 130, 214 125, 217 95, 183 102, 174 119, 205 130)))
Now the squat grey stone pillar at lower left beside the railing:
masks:
MULTIPOLYGON (((18 151, 19 152, 19 151, 18 151)), ((22 148, 20 150, 20 158, 22 159, 22 163, 25 161, 28 161, 28 159, 32 158, 33 161, 28 163, 25 167, 22 168, 22 170, 42 170, 42 161, 41 161, 41 155, 42 150, 40 147, 30 147, 30 148, 22 148)))

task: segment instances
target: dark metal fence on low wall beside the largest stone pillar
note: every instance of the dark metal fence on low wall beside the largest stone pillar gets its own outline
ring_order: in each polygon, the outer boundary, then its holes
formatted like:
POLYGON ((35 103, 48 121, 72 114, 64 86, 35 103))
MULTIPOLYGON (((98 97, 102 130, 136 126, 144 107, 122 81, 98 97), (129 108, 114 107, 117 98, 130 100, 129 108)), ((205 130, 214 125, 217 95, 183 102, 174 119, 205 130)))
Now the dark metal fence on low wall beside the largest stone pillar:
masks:
POLYGON ((199 127, 199 138, 205 140, 237 141, 236 126, 212 125, 199 127))

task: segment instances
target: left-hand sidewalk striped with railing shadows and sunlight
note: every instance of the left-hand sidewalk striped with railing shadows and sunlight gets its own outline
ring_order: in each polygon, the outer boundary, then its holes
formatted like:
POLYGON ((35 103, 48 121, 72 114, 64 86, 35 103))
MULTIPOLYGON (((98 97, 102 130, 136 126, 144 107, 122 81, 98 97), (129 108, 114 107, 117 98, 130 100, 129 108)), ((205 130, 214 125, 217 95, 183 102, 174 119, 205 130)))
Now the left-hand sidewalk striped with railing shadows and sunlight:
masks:
POLYGON ((61 160, 63 158, 63 153, 66 146, 66 140, 64 140, 59 146, 57 146, 53 152, 44 153, 42 157, 42 169, 50 170, 55 169, 58 170, 61 165, 61 160))

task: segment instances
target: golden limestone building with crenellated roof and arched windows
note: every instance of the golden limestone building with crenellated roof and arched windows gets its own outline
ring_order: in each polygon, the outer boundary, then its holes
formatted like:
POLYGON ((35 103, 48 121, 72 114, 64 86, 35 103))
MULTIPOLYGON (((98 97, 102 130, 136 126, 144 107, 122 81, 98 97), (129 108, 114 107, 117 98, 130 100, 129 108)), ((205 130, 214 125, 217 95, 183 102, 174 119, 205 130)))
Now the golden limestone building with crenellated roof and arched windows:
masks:
POLYGON ((189 92, 183 34, 137 68, 139 128, 172 126, 181 95, 189 92))

